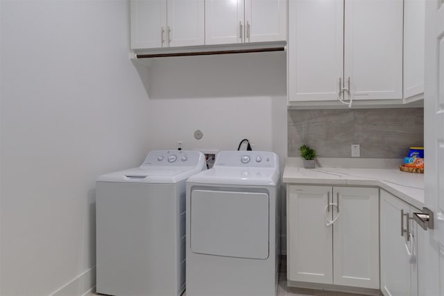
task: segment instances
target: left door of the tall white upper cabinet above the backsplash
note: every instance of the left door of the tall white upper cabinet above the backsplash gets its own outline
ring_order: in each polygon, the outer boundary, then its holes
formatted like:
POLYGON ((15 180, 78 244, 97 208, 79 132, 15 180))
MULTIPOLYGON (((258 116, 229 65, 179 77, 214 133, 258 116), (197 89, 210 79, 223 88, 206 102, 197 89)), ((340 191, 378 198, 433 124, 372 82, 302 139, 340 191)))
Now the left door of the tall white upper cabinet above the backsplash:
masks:
POLYGON ((334 101, 343 77, 343 1, 289 1, 289 101, 334 101))

